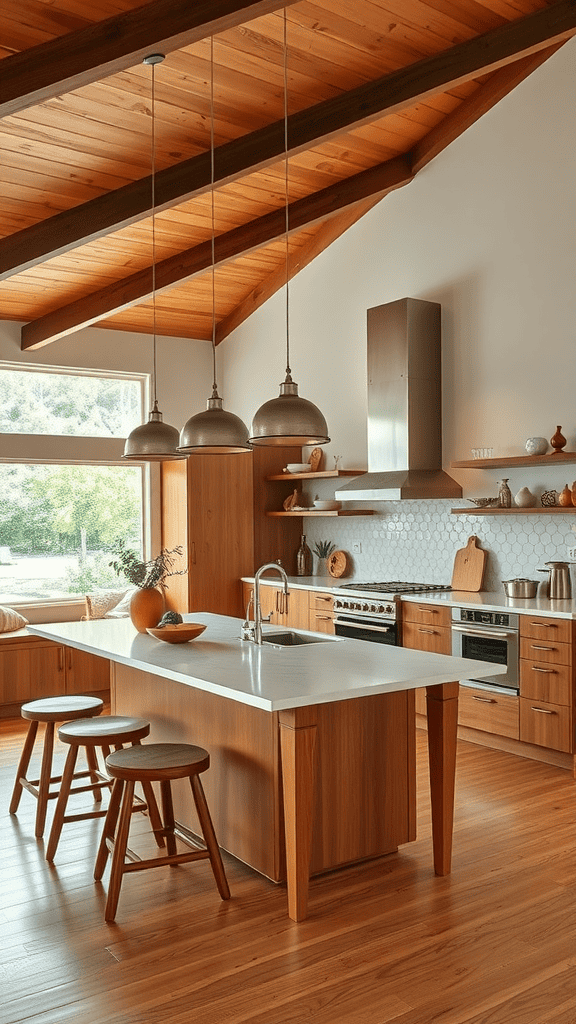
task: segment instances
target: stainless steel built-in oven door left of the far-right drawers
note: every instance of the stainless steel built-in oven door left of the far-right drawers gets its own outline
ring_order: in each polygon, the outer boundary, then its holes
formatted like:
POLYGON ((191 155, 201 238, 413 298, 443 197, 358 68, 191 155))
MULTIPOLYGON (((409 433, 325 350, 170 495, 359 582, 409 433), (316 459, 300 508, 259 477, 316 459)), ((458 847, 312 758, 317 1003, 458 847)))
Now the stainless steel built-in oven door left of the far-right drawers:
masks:
POLYGON ((452 623, 452 653, 455 657, 469 657, 493 665, 505 665, 507 671, 500 676, 483 676, 482 679, 461 679, 462 686, 480 686, 481 689, 500 692, 520 692, 519 642, 516 630, 452 623))

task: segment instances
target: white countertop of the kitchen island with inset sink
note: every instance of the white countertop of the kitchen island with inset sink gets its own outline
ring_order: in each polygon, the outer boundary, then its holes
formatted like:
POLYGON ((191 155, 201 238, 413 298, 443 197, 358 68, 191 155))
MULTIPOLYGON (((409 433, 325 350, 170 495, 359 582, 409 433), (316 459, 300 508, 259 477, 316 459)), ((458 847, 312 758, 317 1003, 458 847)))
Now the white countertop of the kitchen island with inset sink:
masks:
MULTIPOLYGON (((187 644, 163 643, 137 633, 129 618, 50 623, 29 626, 28 630, 47 640, 270 712, 505 671, 502 666, 486 662, 344 637, 323 637, 325 642, 299 647, 258 646, 239 639, 239 618, 209 612, 183 617, 184 622, 206 625, 206 631, 187 644)), ((282 632, 279 627, 264 627, 264 635, 278 632, 282 632)))

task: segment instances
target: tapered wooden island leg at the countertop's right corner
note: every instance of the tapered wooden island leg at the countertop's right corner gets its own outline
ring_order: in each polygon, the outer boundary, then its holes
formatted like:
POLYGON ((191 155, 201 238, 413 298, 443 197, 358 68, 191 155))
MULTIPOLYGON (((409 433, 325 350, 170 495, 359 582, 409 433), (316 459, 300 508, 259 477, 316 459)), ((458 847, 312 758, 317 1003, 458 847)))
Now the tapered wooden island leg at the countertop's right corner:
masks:
POLYGON ((437 874, 450 874, 452 866, 458 690, 458 683, 426 686, 434 869, 437 874))

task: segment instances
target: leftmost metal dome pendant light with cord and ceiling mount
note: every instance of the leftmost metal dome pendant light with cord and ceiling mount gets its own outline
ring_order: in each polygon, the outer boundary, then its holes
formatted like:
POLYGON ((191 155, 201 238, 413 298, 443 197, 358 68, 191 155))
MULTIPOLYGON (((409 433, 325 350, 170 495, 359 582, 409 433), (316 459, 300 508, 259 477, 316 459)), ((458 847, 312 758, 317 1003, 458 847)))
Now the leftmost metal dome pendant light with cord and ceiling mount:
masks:
POLYGON ((161 63, 164 59, 163 53, 151 53, 143 58, 143 63, 152 67, 152 308, 154 328, 154 365, 153 365, 153 394, 154 406, 149 413, 148 423, 136 427, 128 437, 124 445, 123 459, 132 459, 134 462, 168 462, 174 459, 183 459, 186 456, 177 451, 178 431, 175 427, 169 426, 162 421, 162 413, 158 409, 158 397, 156 393, 156 191, 155 191, 155 171, 156 171, 156 139, 155 139, 155 65, 161 63))

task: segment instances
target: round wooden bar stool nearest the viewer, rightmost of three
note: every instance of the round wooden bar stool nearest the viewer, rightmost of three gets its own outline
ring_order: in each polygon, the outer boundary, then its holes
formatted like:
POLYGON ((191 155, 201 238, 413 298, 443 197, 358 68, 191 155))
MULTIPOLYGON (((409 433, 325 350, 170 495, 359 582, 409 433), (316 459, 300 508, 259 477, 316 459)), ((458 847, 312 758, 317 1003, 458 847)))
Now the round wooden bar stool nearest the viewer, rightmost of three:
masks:
POLYGON ((109 851, 112 852, 110 886, 106 904, 106 921, 114 921, 120 896, 122 879, 127 871, 139 871, 148 867, 165 864, 182 864, 191 860, 207 857, 212 865, 218 892, 222 899, 230 899, 230 889, 218 849, 212 819, 204 796, 200 774, 210 766, 210 755, 202 746, 190 743, 147 743, 142 746, 127 746, 111 754, 106 759, 107 770, 115 778, 110 806, 105 821, 94 879, 104 874, 109 851), (205 847, 195 846, 190 836, 181 833, 174 822, 172 791, 170 783, 175 778, 189 778, 198 812, 205 847), (162 814, 166 837, 167 855, 153 859, 140 859, 128 849, 128 833, 135 782, 160 782, 162 814), (120 805, 122 804, 122 808, 120 805), (120 820, 118 820, 120 817, 120 820), (117 827, 118 825, 118 827, 117 827), (191 847, 190 853, 176 852, 176 837, 191 847), (126 863, 126 859, 129 863, 126 863))

